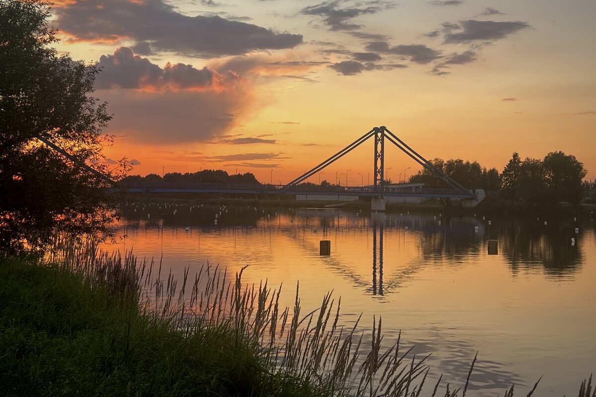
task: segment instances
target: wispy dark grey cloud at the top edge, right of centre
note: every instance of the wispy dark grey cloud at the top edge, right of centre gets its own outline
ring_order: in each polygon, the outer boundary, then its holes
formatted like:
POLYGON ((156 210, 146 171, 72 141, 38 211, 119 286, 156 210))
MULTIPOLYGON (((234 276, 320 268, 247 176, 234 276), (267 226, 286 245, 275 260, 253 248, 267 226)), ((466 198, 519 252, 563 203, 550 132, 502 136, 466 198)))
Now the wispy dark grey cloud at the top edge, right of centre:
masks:
POLYGON ((330 30, 358 30, 362 25, 353 23, 352 19, 360 15, 376 14, 393 6, 390 2, 373 0, 363 1, 351 8, 339 8, 340 0, 325 1, 320 4, 303 8, 304 15, 323 17, 323 23, 330 30))

